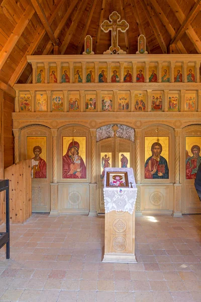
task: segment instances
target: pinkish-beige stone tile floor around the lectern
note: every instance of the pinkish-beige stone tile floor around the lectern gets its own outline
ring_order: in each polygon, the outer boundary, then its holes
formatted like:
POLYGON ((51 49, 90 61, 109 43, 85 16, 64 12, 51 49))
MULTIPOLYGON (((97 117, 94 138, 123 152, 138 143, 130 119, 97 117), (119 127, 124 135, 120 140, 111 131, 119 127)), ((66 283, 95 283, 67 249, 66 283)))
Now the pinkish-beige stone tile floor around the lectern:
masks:
POLYGON ((138 263, 130 264, 101 262, 104 223, 37 213, 11 224, 11 259, 0 250, 0 301, 201 301, 201 215, 137 217, 138 263))

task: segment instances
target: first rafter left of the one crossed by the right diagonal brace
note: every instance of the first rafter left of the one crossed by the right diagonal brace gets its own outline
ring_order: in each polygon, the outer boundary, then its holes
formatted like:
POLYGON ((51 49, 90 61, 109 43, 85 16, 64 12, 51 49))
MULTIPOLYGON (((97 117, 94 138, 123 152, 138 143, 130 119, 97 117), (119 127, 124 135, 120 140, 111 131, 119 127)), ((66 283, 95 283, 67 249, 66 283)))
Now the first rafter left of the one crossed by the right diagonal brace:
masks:
POLYGON ((163 53, 167 53, 167 47, 165 45, 165 42, 163 40, 162 35, 160 34, 159 28, 157 26, 157 23, 155 21, 154 16, 152 16, 152 12, 151 12, 151 8, 150 5, 148 3, 148 0, 143 0, 140 2, 140 4, 142 5, 145 14, 147 16, 147 19, 149 20, 149 24, 153 30, 153 33, 158 41, 158 44, 160 45, 160 48, 162 50, 163 53))

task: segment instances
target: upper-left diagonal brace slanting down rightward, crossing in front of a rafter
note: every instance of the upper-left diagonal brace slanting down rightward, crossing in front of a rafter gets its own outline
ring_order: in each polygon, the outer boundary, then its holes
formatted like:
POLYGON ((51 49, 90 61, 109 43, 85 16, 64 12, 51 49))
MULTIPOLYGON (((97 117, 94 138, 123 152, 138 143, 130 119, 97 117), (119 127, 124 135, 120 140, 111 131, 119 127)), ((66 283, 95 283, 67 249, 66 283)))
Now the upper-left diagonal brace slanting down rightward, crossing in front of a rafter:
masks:
POLYGON ((33 7, 34 7, 36 13, 38 14, 38 16, 39 16, 39 18, 40 18, 47 34, 48 34, 50 40, 52 41, 53 45, 57 45, 57 41, 55 39, 55 36, 52 32, 52 29, 51 29, 49 23, 48 23, 46 15, 45 15, 45 13, 44 13, 44 11, 43 11, 40 3, 39 3, 39 0, 31 0, 31 2, 32 2, 33 7))

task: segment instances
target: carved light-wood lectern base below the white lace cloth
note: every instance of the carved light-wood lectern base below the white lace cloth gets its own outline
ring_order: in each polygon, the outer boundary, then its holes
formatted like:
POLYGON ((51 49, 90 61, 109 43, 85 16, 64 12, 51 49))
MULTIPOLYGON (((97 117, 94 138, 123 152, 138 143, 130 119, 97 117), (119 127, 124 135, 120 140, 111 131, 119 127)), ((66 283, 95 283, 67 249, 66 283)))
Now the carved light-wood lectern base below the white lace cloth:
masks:
POLYGON ((135 257, 135 211, 112 211, 105 215, 103 262, 137 262, 135 257))

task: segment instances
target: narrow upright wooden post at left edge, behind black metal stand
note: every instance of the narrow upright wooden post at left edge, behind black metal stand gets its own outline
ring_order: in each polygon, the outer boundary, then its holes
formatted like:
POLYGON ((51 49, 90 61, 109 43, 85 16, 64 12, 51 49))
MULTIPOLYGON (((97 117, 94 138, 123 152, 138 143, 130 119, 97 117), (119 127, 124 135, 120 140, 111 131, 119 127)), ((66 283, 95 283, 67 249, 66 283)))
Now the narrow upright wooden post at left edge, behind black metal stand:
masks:
MULTIPOLYGON (((0 89, 0 179, 4 179, 4 91, 0 89)), ((0 192, 0 224, 5 220, 4 192, 0 192)))

